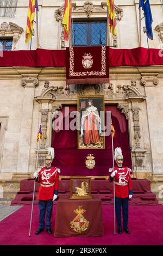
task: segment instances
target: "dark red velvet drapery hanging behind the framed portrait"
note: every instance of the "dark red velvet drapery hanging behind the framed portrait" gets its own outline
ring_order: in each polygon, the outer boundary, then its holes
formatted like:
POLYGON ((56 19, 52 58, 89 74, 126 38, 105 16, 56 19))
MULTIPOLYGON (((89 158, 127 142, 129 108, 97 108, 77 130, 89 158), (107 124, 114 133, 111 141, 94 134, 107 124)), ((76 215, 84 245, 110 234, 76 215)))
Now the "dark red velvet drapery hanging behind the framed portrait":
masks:
MULTIPOLYGON (((71 106, 70 112, 72 111, 77 111, 77 106, 71 106)), ((131 168, 127 120, 118 111, 117 106, 105 106, 106 111, 111 111, 112 123, 115 128, 114 148, 122 148, 124 166, 131 168)), ((64 108, 62 108, 62 112, 64 112, 64 108)), ((111 135, 105 137, 105 149, 78 149, 76 130, 53 131, 52 147, 55 150, 53 166, 61 169, 60 175, 108 175, 108 170, 112 167, 111 135), (86 167, 85 160, 88 154, 95 156, 94 169, 87 169, 86 167)))

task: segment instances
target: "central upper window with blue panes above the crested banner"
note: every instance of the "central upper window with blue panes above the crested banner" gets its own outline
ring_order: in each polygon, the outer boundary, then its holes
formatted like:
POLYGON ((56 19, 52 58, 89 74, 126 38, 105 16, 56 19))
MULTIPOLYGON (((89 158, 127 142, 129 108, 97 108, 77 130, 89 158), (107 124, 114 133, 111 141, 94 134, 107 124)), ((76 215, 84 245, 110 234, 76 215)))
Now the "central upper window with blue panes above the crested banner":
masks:
POLYGON ((106 45, 106 21, 72 23, 72 46, 106 45))

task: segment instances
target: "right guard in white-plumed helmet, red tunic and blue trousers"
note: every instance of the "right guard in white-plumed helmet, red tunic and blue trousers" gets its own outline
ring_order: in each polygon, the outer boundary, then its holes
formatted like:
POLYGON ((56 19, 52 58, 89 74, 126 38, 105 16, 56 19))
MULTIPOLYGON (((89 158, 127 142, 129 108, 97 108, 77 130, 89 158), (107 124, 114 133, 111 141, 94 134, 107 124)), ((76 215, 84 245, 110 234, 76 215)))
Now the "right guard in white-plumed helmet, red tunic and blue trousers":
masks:
POLYGON ((121 208, 123 215, 123 228, 127 234, 130 234, 128 229, 128 200, 133 197, 133 186, 131 182, 131 169, 123 166, 123 155, 121 148, 115 149, 114 159, 117 166, 110 168, 109 182, 115 181, 115 209, 118 224, 118 233, 122 234, 121 224, 121 208))

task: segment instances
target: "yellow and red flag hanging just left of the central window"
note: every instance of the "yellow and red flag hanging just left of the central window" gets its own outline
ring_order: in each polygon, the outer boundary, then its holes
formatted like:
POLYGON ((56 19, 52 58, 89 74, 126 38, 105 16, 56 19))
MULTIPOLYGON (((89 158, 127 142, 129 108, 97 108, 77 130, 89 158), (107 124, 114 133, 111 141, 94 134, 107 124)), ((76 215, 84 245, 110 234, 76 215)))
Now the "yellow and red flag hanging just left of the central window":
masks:
POLYGON ((65 0, 64 17, 62 20, 64 25, 64 39, 68 41, 68 35, 70 34, 71 27, 71 0, 65 0))

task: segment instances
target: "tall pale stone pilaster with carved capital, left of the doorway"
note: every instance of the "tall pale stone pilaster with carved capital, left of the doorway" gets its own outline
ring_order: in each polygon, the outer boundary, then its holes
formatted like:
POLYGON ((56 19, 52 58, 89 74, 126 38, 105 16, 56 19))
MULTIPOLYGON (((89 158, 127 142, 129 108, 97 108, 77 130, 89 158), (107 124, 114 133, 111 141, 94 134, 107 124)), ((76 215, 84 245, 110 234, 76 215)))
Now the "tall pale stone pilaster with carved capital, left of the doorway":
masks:
POLYGON ((24 87, 22 120, 20 129, 20 141, 18 147, 17 172, 12 178, 23 179, 29 176, 29 150, 30 136, 32 130, 32 117, 34 106, 35 87, 39 85, 36 77, 24 77, 22 86, 24 87))

